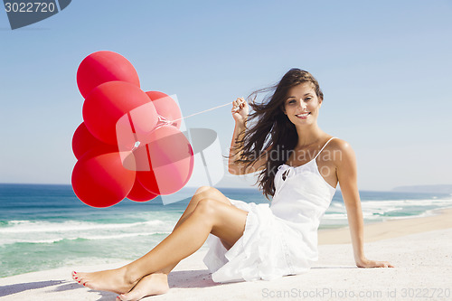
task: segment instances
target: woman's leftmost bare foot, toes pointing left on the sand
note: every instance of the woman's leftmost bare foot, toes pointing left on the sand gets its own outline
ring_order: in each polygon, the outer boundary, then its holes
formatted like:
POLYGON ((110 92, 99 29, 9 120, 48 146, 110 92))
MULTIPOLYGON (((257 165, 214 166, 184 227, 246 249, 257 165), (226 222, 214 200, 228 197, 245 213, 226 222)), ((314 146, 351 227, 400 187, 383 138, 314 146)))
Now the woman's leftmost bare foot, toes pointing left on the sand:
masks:
POLYGON ((117 294, 127 293, 137 284, 126 277, 126 268, 108 269, 94 273, 72 272, 72 278, 80 285, 95 290, 108 290, 117 294))

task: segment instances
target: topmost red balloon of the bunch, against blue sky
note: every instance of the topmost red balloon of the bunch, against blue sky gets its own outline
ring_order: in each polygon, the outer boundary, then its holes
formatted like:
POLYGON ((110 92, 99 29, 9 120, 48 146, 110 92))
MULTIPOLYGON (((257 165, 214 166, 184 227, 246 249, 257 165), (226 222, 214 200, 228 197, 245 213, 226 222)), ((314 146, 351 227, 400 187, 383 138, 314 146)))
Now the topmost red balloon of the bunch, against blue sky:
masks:
POLYGON ((100 84, 113 80, 140 86, 137 71, 125 57, 116 52, 94 52, 81 61, 77 70, 77 85, 83 98, 100 84))

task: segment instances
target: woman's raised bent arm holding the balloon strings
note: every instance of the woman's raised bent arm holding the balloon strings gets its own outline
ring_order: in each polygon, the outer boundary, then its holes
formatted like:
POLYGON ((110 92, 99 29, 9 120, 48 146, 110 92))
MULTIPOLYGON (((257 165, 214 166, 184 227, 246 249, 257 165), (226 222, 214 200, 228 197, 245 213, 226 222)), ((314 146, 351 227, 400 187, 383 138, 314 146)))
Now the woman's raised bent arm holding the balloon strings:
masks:
POLYGON ((259 160, 253 162, 248 168, 244 163, 235 163, 242 155, 242 145, 238 143, 243 138, 246 129, 247 118, 249 114, 248 103, 243 98, 236 99, 232 102, 232 117, 235 120, 234 134, 232 134, 230 157, 228 169, 230 174, 251 174, 265 167, 267 162, 266 156, 262 156, 259 160), (239 108, 237 111, 234 111, 239 108))

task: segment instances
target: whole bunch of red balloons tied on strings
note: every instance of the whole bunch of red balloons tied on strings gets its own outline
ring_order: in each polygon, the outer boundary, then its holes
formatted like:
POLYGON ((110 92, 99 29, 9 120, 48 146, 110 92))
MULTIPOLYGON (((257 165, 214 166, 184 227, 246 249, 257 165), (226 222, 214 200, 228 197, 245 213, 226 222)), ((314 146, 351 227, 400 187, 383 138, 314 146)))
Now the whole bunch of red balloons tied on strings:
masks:
POLYGON ((174 99, 140 89, 137 71, 116 52, 89 54, 77 84, 84 122, 72 137, 78 162, 71 181, 81 202, 145 202, 184 187, 193 172, 193 148, 179 129, 174 99))

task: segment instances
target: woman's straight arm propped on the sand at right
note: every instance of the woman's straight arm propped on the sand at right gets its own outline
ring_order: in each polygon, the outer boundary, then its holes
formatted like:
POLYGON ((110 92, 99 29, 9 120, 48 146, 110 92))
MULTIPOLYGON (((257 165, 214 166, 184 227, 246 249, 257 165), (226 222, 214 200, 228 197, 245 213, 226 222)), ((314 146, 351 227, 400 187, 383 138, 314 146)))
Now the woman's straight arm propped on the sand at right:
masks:
POLYGON ((352 146, 344 140, 336 142, 338 153, 334 157, 336 174, 347 210, 347 219, 352 236, 353 256, 359 268, 393 268, 388 261, 375 261, 364 256, 364 222, 358 192, 356 158, 352 146))

